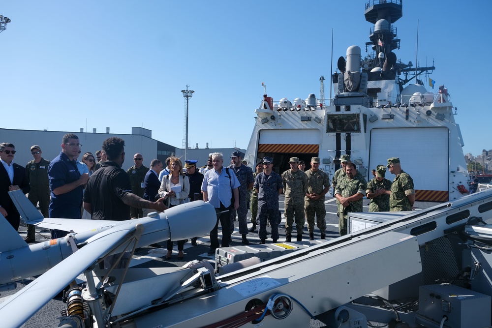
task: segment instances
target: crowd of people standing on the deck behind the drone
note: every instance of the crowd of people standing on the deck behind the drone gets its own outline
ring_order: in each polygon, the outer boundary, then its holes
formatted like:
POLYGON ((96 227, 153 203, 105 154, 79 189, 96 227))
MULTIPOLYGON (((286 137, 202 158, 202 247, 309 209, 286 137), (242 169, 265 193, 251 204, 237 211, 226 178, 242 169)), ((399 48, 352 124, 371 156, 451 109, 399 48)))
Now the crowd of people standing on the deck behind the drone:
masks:
MULTIPOLYGON (((243 155, 234 151, 231 164, 223 166, 222 153, 209 154, 207 165, 200 170, 196 160, 171 156, 162 163, 158 159, 143 165, 142 154, 133 155, 134 165, 126 172, 124 140, 110 137, 102 149, 81 152, 79 138, 67 133, 62 138, 60 154, 48 161, 42 157, 41 147, 31 147, 31 160, 25 167, 14 163, 15 147, 0 144, 0 214, 16 230, 20 217, 8 191, 22 189, 33 205, 39 206, 43 216, 53 218, 127 220, 147 216, 152 211, 164 211, 191 201, 203 200, 214 206, 217 221, 210 232, 210 256, 220 243, 218 224, 222 229, 221 246, 228 247, 234 231, 234 221, 239 221, 242 243, 249 244, 248 233, 258 232, 260 243, 265 243, 271 229, 271 238, 277 242, 281 214, 279 195, 284 194, 285 241, 303 239, 307 220, 309 239, 314 239, 314 225, 320 238, 326 239, 325 195, 330 186, 338 205, 340 235, 347 233, 348 212, 362 212, 362 200, 370 199, 369 211, 412 210, 415 190, 412 178, 400 166, 400 159, 392 157, 387 165, 372 170, 373 179, 367 182, 349 155, 340 156, 341 168, 331 180, 319 169, 320 158, 312 157, 310 168, 297 157, 289 159, 290 169, 281 175, 273 171, 274 159, 264 157, 256 164, 255 172, 243 161, 243 155), (393 182, 385 178, 386 171, 394 174, 393 182), (251 212, 252 227, 247 228, 247 210, 251 212)), ((66 236, 67 232, 52 230, 53 239, 66 236)), ((26 242, 35 241, 35 229, 28 225, 26 242)), ((184 243, 178 240, 178 259, 184 258, 184 243)), ((191 243, 197 244, 197 238, 191 243)), ((151 246, 161 247, 159 244, 151 246)), ((174 243, 167 242, 166 259, 171 259, 174 243)))

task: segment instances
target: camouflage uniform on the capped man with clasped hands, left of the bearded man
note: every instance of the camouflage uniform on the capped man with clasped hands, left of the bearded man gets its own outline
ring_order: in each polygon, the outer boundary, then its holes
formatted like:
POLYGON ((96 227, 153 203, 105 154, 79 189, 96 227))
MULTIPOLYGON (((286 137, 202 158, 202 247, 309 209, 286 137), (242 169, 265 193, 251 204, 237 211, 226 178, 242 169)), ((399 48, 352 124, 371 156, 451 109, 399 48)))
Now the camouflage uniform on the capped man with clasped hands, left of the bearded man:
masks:
MULTIPOLYGON (((307 193, 308 194, 321 194, 325 187, 330 185, 330 178, 326 172, 318 170, 316 172, 312 172, 311 170, 306 171, 307 177, 307 193)), ((325 209, 325 197, 321 197, 320 199, 312 200, 304 198, 304 210, 307 219, 307 231, 309 233, 314 232, 314 214, 316 214, 316 225, 321 234, 324 234, 326 231, 326 209, 325 209)))

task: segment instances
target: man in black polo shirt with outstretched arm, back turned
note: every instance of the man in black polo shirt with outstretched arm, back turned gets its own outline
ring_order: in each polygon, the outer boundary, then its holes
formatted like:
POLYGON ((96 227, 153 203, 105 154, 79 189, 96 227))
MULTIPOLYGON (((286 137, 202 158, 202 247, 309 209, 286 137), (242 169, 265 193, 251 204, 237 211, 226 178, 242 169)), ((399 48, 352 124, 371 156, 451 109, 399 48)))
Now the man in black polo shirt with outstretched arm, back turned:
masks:
POLYGON ((163 199, 147 201, 131 192, 130 178, 122 169, 124 140, 111 137, 102 143, 108 161, 92 174, 84 192, 84 209, 95 220, 127 220, 130 207, 163 211, 163 199))

